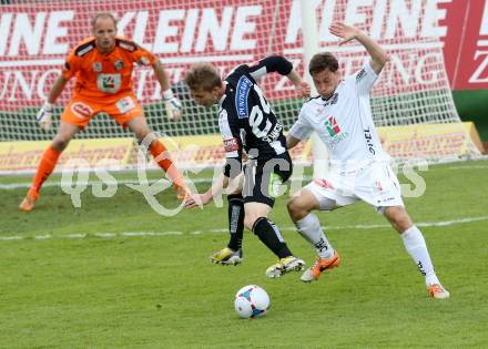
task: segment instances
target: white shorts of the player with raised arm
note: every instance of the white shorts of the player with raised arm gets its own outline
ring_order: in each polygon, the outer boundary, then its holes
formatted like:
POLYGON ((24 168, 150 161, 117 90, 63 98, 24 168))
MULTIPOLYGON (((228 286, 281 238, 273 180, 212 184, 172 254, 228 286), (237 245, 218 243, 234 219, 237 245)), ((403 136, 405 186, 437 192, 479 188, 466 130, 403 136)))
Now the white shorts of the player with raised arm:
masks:
POLYGON ((304 186, 314 194, 319 208, 325 209, 327 199, 337 206, 347 206, 364 201, 378 212, 384 207, 404 206, 400 185, 392 167, 386 163, 372 163, 350 173, 332 171, 325 178, 314 179, 304 186))

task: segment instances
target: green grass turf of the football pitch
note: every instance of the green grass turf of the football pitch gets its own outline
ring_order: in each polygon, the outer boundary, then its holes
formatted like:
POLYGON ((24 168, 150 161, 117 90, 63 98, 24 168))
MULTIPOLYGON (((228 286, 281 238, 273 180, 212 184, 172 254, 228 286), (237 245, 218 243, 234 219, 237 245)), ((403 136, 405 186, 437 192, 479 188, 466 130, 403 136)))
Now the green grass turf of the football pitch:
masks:
MULTIPOLYGON (((250 232, 242 266, 212 265, 227 240, 226 209, 212 204, 163 217, 120 186, 112 198, 85 191, 74 208, 53 186, 24 214, 26 188, 1 189, 0 348, 486 348, 487 173, 488 161, 430 166, 419 173, 425 195, 406 199, 415 220, 429 223, 421 229, 451 292, 444 301, 427 296, 400 238, 365 204, 319 214, 342 265, 303 284, 299 274, 266 279, 275 258, 250 232), (144 232, 157 234, 128 235, 144 232), (247 284, 270 294, 266 317, 234 312, 247 284)), ((29 178, 0 179, 19 182, 29 178)), ((291 229, 286 198, 273 219, 309 265, 314 252, 291 229)), ((177 205, 173 192, 157 199, 177 205)))

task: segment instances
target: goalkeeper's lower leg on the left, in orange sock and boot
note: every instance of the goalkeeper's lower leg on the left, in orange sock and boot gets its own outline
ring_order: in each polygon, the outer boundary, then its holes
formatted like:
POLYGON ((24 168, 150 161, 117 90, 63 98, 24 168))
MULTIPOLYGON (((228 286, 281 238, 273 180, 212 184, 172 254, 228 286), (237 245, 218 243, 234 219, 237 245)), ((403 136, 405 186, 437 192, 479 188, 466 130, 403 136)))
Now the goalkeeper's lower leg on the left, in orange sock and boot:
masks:
POLYGON ((51 145, 41 156, 29 192, 23 198, 22 203, 19 205, 21 211, 29 212, 34 208, 35 202, 40 196, 42 184, 54 171, 62 151, 64 151, 64 148, 68 146, 78 130, 78 125, 61 121, 58 133, 54 136, 51 145))

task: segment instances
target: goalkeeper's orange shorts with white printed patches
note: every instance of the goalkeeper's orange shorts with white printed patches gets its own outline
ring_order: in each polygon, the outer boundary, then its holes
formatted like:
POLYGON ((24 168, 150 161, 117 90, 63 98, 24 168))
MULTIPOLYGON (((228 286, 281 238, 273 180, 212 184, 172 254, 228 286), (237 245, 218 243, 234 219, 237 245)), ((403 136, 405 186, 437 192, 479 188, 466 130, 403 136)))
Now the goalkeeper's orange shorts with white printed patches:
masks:
POLYGON ((123 127, 125 127, 131 120, 144 115, 133 93, 121 95, 114 103, 103 103, 103 101, 94 102, 77 96, 64 107, 61 121, 77 125, 83 130, 89 124, 90 119, 100 113, 108 114, 123 127))

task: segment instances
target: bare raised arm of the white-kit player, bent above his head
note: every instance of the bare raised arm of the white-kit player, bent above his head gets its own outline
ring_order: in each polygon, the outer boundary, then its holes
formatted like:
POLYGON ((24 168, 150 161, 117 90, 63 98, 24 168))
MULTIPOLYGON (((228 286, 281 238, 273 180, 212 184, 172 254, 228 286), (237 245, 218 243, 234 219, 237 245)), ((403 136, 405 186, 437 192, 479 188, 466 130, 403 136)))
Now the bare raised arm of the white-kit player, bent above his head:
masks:
POLYGON ((359 41, 372 57, 372 68, 376 73, 379 73, 383 66, 385 66, 386 62, 388 61, 388 54, 385 52, 385 50, 383 50, 375 40, 369 38, 363 31, 339 22, 332 23, 328 30, 332 34, 343 39, 339 42, 339 45, 345 44, 346 42, 349 42, 354 39, 359 41))

